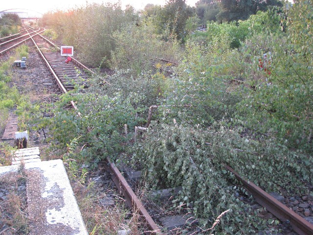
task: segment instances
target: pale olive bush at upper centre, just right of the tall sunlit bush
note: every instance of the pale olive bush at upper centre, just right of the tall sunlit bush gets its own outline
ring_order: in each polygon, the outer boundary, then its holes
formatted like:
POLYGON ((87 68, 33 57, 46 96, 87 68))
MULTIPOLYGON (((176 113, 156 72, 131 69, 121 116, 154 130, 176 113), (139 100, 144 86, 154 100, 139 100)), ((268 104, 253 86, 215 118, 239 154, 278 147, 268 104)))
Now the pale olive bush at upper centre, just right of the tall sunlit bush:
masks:
POLYGON ((163 42, 150 25, 135 26, 115 32, 116 49, 112 51, 112 69, 132 70, 134 75, 151 70, 156 57, 179 61, 181 49, 177 41, 163 42))

